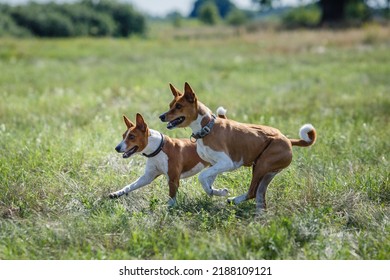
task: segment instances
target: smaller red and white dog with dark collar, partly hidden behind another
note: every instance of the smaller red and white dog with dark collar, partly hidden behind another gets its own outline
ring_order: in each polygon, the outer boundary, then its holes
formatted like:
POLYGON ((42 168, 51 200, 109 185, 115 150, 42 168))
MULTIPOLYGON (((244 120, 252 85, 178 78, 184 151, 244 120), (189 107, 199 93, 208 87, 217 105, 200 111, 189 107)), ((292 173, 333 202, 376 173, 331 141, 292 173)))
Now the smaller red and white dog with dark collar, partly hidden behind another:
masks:
MULTIPOLYGON (((224 115, 219 115, 224 118, 224 115)), ((168 177, 169 206, 176 203, 176 192, 179 180, 199 173, 209 164, 196 153, 196 144, 189 139, 170 138, 160 132, 149 129, 142 115, 136 115, 136 124, 123 116, 127 130, 123 140, 116 146, 123 158, 136 153, 147 157, 144 174, 135 182, 125 186, 119 191, 110 193, 110 198, 118 198, 138 188, 150 184, 155 178, 164 174, 168 177)))

